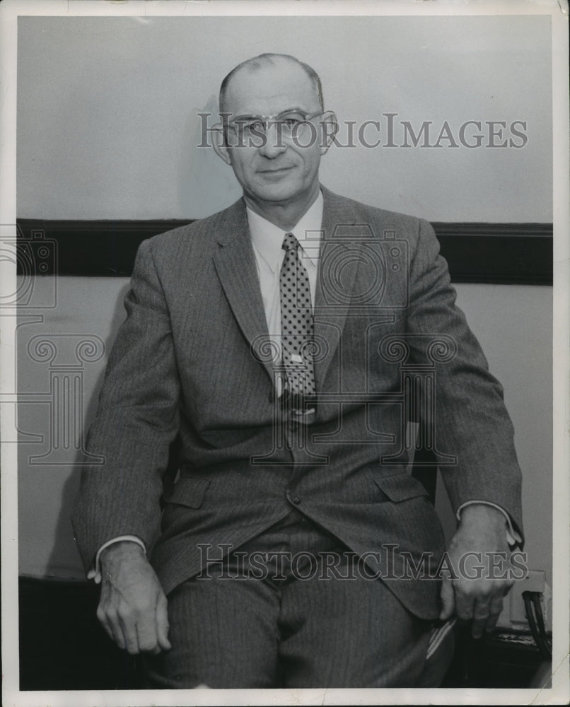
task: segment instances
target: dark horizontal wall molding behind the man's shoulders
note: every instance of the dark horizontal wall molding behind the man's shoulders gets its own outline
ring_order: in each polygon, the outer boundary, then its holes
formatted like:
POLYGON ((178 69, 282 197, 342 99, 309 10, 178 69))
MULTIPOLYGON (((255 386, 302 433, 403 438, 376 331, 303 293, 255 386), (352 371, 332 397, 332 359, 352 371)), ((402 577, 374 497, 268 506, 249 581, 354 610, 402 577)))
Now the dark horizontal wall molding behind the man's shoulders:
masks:
MULTIPOLYGON (((128 277, 141 241, 187 220, 18 219, 18 274, 128 277)), ((453 282, 552 284, 551 223, 434 222, 453 282)))

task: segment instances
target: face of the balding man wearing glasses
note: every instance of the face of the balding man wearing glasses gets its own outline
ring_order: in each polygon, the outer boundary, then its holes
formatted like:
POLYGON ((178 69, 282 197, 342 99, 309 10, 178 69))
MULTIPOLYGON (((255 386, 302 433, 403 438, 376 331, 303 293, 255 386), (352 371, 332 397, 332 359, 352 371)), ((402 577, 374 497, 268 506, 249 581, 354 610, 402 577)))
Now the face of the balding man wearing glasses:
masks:
MULTIPOLYGON (((280 62, 250 71, 244 69, 231 79, 223 111, 231 113, 229 121, 251 115, 279 115, 288 110, 301 110, 313 115, 320 112, 317 91, 303 69, 296 64, 280 62)), ((246 196, 254 201, 288 204, 301 201, 318 188, 318 168, 322 149, 320 129, 309 131, 297 141, 279 136, 277 126, 269 127, 265 140, 242 140, 245 146, 228 147, 231 164, 246 196), (308 146, 304 146, 308 144, 308 146)), ((238 143, 229 134, 230 144, 238 143)))

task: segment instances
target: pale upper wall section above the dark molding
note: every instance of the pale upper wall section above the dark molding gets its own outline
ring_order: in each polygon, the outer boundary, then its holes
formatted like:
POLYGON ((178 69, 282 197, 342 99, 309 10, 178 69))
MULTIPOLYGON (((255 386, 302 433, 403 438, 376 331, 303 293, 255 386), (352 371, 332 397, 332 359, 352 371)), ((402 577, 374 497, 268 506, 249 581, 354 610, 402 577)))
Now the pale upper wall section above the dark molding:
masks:
POLYGON ((20 218, 198 218, 227 206, 240 192, 195 147, 197 113, 216 112, 235 64, 277 51, 315 67, 341 122, 380 121, 383 145, 385 112, 416 132, 432 121, 434 135, 447 120, 456 141, 467 120, 527 123, 524 148, 336 148, 322 163, 331 189, 432 221, 552 220, 547 17, 28 17, 18 47, 20 218))

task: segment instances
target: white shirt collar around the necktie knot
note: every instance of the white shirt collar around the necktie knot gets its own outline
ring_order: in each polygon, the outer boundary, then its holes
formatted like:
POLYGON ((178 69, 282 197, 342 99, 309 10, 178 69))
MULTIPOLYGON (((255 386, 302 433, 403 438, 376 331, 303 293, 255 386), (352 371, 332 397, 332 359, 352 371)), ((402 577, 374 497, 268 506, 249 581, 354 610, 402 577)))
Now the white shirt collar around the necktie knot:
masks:
MULTIPOLYGON (((322 208, 322 192, 319 190, 318 197, 290 231, 298 240, 299 245, 301 245, 303 255, 308 257, 315 266, 318 264, 319 257, 322 208)), ((283 259, 281 246, 283 245, 285 234, 289 233, 289 231, 275 226, 271 221, 267 221, 267 218, 263 218, 263 216, 252 211, 249 206, 247 207, 247 212, 252 243, 264 261, 267 262, 269 268, 275 272, 281 267, 281 260, 283 259)))

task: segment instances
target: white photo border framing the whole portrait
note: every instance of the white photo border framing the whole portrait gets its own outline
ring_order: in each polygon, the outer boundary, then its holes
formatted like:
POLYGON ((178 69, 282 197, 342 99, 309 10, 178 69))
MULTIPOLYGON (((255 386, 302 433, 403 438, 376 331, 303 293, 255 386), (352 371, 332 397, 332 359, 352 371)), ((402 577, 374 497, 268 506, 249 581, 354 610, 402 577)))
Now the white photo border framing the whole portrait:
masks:
MULTIPOLYGON (((494 0, 481 2, 305 0, 6 0, 0 6, 0 66, 4 103, 0 131, 0 235, 16 233, 16 37, 18 16, 178 16, 178 15, 399 15, 478 16, 549 15, 552 19, 553 76, 553 170, 554 170, 554 592, 553 676, 550 689, 306 689, 306 690, 197 690, 197 691, 19 691, 18 688, 18 525, 16 445, 1 449, 2 530, 2 660, 3 703, 8 706, 113 705, 230 705, 230 704, 519 704, 564 703, 569 699, 569 95, 568 95, 568 7, 564 1, 494 0), (468 701, 468 702, 467 702, 468 701)), ((3 291, 15 291, 15 268, 1 271, 3 291)), ((11 380, 15 351, 15 311, 3 310, 1 326, 1 387, 15 390, 11 380)), ((8 423, 1 416, 2 437, 8 423)))

